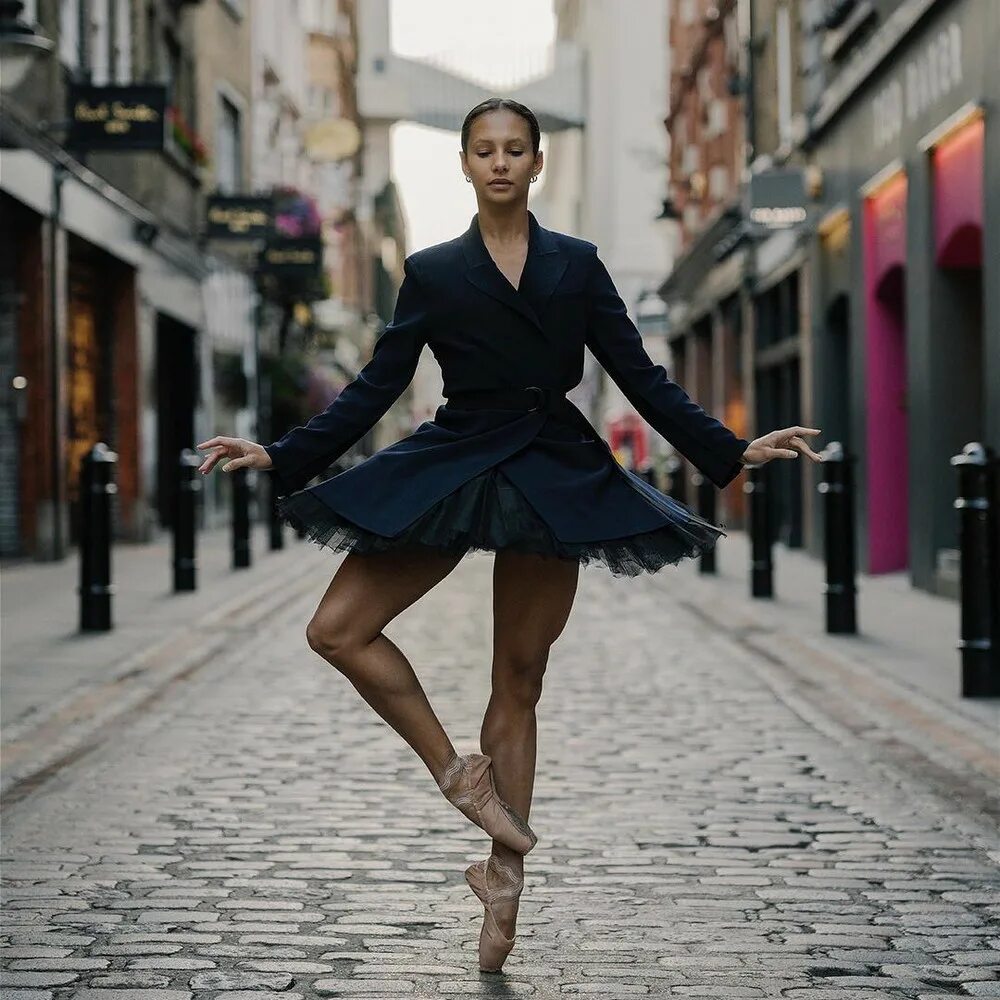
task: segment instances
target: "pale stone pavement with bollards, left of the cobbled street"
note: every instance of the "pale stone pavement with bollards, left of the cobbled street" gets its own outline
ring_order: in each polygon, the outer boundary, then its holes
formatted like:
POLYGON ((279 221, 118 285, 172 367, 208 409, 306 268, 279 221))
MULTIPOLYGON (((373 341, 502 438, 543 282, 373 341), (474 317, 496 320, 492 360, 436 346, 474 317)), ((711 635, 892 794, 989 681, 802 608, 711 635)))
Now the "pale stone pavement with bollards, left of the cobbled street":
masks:
MULTIPOLYGON (((60 762, 99 741, 109 722, 139 710, 232 642, 241 622, 266 616, 303 587, 298 567, 308 543, 285 529, 269 551, 257 524, 252 565, 232 569, 231 532, 198 535, 198 589, 173 592, 169 534, 112 553, 114 628, 79 630, 79 555, 59 562, 5 564, 0 724, 5 801, 44 780, 60 762)), ((332 568, 331 568, 332 574, 332 568)), ((320 594, 322 595, 322 590, 320 594)))

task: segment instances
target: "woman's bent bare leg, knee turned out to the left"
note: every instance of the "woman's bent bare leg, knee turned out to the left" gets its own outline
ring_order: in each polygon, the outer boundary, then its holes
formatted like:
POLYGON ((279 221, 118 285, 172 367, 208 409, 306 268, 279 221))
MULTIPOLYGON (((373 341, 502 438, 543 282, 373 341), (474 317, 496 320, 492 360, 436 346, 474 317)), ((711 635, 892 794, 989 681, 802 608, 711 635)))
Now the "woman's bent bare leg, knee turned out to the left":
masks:
POLYGON ((416 547, 348 553, 306 629, 309 645, 406 740, 435 781, 455 748, 413 667, 382 629, 443 580, 461 558, 416 547))

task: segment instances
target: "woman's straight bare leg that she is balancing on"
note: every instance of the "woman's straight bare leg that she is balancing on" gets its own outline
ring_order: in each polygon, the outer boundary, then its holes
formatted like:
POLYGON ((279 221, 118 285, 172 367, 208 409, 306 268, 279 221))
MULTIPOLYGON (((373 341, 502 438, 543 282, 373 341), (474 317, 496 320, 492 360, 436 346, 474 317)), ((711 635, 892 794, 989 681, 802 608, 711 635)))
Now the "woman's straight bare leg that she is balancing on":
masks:
MULTIPOLYGON (((525 819, 535 783, 535 705, 549 648, 569 619, 580 565, 502 550, 493 563, 493 691, 483 718, 480 744, 493 758, 501 797, 525 819)), ((493 841, 493 853, 519 875, 524 855, 493 841)), ((512 936, 517 901, 494 905, 500 929, 512 936)))

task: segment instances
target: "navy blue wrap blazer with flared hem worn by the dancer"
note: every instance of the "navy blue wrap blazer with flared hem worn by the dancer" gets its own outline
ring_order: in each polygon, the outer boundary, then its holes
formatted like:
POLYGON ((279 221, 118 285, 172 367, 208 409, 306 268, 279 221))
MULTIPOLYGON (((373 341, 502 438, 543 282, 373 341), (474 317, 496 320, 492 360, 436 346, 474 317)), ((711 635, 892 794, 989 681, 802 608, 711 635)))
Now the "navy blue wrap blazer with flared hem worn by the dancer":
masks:
POLYGON ((490 256, 478 213, 460 236, 406 258, 392 321, 371 360, 322 413, 265 446, 279 493, 308 488, 351 521, 394 535, 472 476, 502 465, 564 541, 649 531, 676 516, 676 501, 615 461, 575 407, 579 419, 570 422, 545 409, 446 402, 401 441, 307 486, 401 395, 425 345, 441 366, 446 398, 525 386, 565 392, 580 383, 589 348, 643 419, 711 482, 722 488, 739 474, 749 441, 653 363, 597 246, 545 229, 530 211, 528 220, 516 289, 490 256))

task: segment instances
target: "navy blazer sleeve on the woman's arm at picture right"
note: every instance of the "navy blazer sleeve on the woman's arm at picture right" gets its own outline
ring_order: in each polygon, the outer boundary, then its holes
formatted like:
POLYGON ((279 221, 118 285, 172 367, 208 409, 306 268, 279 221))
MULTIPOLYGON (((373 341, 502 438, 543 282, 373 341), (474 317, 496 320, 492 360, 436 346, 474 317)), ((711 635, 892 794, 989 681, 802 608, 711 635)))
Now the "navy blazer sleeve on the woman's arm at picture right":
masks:
POLYGON ((719 489, 743 468, 750 442, 706 413, 663 365, 653 364, 611 275, 593 251, 588 278, 587 346, 639 415, 719 489))

